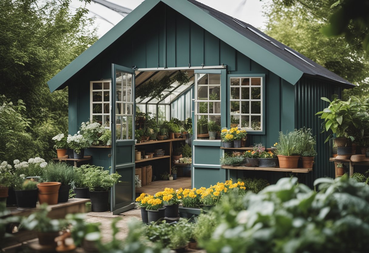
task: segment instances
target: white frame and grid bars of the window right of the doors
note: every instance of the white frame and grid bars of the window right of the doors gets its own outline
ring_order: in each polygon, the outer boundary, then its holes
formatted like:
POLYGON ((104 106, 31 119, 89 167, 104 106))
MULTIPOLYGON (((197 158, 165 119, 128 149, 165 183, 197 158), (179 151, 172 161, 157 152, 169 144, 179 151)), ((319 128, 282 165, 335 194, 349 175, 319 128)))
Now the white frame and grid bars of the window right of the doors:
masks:
MULTIPOLYGON (((230 116, 234 115, 234 116, 239 116, 239 125, 241 126, 241 129, 244 129, 248 132, 264 132, 265 129, 263 129, 263 99, 264 96, 264 91, 263 91, 263 82, 265 81, 263 79, 264 77, 261 77, 261 76, 258 76, 258 75, 255 75, 255 76, 245 76, 245 75, 235 75, 235 76, 230 76, 229 77, 229 84, 230 84, 230 102, 229 102, 229 108, 230 108, 230 116), (231 79, 236 79, 238 78, 239 79, 239 85, 232 85, 232 82, 231 82, 231 79), (246 85, 241 85, 241 79, 242 78, 249 78, 249 82, 250 84, 248 86, 246 85), (260 78, 260 84, 261 85, 251 85, 251 78, 260 78), (250 90, 249 90, 249 96, 250 96, 250 99, 241 99, 241 88, 242 87, 248 87, 250 90), (261 98, 260 99, 251 99, 251 88, 260 88, 260 96, 261 98), (239 88, 239 99, 231 99, 231 88, 239 88), (232 101, 236 101, 236 102, 239 102, 239 106, 240 106, 240 112, 238 114, 232 114, 231 112, 231 102, 232 101), (249 113, 248 114, 243 114, 241 113, 241 102, 249 102, 249 113), (260 102, 260 113, 251 113, 251 102, 260 102), (249 116, 249 124, 251 124, 251 117, 252 116, 260 116, 260 129, 253 129, 251 127, 248 127, 248 128, 245 128, 245 127, 242 127, 242 124, 241 124, 241 120, 242 120, 242 116, 249 116)), ((231 122, 230 122, 231 124, 231 122)))

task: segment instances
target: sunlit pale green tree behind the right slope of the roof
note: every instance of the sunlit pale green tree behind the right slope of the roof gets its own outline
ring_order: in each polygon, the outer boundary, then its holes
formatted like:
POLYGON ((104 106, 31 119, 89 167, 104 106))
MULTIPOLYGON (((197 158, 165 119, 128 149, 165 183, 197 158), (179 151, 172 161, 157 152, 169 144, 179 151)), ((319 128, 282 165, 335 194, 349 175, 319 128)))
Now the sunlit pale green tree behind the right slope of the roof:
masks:
POLYGON ((265 8, 268 18, 265 33, 301 54, 358 85, 344 90, 343 97, 369 96, 369 55, 360 43, 348 44, 345 37, 326 37, 334 0, 273 0, 265 8))

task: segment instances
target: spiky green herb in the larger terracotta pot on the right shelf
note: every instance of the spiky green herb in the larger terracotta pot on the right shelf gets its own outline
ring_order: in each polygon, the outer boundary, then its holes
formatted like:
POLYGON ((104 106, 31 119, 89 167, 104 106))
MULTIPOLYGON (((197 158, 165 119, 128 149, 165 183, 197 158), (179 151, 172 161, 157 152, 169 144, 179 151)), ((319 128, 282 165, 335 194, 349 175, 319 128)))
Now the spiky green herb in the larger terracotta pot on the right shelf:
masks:
POLYGON ((293 169, 298 167, 300 155, 297 150, 297 142, 295 132, 279 132, 279 142, 277 145, 277 156, 279 168, 293 169))

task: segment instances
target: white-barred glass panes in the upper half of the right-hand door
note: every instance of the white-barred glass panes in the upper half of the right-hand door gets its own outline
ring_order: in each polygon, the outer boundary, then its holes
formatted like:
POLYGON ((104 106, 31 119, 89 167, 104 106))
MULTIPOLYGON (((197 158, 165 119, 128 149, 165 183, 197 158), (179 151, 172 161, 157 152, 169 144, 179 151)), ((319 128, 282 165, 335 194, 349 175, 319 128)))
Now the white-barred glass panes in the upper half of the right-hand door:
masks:
POLYGON ((208 121, 220 125, 221 74, 195 74, 196 139, 208 139, 208 121))

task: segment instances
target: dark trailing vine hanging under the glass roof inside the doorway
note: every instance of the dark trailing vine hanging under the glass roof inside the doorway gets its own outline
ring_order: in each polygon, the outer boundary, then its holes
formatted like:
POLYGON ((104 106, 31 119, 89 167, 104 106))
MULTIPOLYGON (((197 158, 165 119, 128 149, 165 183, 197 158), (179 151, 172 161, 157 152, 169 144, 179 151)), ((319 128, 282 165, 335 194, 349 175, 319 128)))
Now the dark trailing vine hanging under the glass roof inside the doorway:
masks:
POLYGON ((188 76, 187 71, 179 70, 172 77, 170 77, 169 75, 165 75, 160 80, 151 79, 145 82, 144 84, 136 88, 136 97, 141 99, 152 97, 160 100, 164 98, 164 94, 162 92, 164 90, 169 90, 170 88, 172 88, 172 84, 176 81, 180 85, 187 84, 190 81, 190 77, 188 76))

